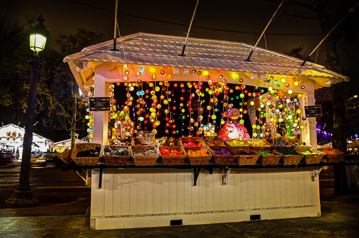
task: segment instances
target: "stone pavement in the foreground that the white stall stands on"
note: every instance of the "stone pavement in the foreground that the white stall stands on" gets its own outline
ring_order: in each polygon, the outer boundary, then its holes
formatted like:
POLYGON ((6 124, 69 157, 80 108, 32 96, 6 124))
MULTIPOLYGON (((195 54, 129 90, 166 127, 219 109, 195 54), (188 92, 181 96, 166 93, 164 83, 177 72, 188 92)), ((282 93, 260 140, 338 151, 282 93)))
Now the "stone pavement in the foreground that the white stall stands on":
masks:
POLYGON ((323 205, 321 217, 116 230, 90 230, 90 209, 85 215, 12 217, 9 214, 0 218, 0 238, 359 237, 356 200, 330 201, 323 205))

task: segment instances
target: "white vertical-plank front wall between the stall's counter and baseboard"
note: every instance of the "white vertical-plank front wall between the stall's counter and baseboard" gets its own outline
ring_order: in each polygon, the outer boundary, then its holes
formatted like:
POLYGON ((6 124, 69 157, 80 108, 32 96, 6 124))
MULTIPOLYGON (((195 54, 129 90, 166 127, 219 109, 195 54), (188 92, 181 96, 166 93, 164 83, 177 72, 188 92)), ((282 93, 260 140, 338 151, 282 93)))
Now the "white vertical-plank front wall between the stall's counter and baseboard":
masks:
POLYGON ((193 169, 106 168, 101 189, 99 169, 93 169, 91 217, 137 217, 144 221, 146 215, 168 214, 168 219, 173 214, 194 217, 215 211, 218 217, 223 217, 223 212, 237 217, 242 211, 251 211, 279 219, 287 217, 280 215, 282 209, 300 207, 308 211, 303 216, 315 216, 320 214, 320 200, 318 181, 311 181, 314 169, 318 168, 232 168, 226 185, 222 185, 220 169, 212 174, 204 170, 193 186, 193 169), (266 209, 271 212, 265 213, 266 209))

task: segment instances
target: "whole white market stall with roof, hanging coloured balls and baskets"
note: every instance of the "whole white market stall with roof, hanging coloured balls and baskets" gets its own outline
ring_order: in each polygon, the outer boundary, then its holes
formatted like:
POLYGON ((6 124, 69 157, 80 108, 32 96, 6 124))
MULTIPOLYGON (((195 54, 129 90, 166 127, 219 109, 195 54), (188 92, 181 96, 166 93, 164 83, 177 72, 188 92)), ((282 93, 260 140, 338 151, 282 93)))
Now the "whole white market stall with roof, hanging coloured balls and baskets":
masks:
POLYGON ((90 104, 71 158, 93 166, 92 229, 320 216, 319 165, 343 154, 315 150, 314 89, 348 77, 261 48, 247 62, 244 43, 120 41, 64 60, 90 104))

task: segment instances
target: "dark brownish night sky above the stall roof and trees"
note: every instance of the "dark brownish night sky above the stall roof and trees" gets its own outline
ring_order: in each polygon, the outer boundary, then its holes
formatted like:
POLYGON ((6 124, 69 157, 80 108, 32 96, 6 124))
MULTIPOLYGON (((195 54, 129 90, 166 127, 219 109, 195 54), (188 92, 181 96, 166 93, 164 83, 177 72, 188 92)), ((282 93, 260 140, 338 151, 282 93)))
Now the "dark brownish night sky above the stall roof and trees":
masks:
MULTIPOLYGON (((300 2, 310 3, 312 0, 298 0, 300 2)), ((291 2, 291 0, 289 0, 291 2)), ((343 7, 343 0, 329 1, 330 9, 328 11, 336 16, 333 22, 337 22, 345 13, 346 7, 343 7)), ((352 1, 348 1, 352 2, 352 1)), ((122 36, 137 33, 156 33, 186 36, 188 27, 151 21, 149 19, 124 15, 136 15, 159 21, 166 21, 178 24, 189 25, 196 0, 182 1, 119 1, 118 24, 122 36)), ((273 3, 265 0, 243 0, 243 1, 200 1, 198 5, 190 37, 219 39, 233 42, 244 42, 254 45, 260 33, 269 22, 273 13, 279 6, 279 3, 273 3), (196 26, 223 29, 252 33, 236 33, 228 31, 218 31, 209 29, 200 29, 196 26)), ((12 21, 25 22, 26 14, 43 14, 46 18, 45 25, 51 31, 49 45, 56 47, 54 39, 58 34, 74 34, 79 28, 94 30, 103 33, 103 41, 113 38, 114 30, 114 8, 115 0, 32 0, 32 1, 6 1, 2 3, 0 12, 7 15, 12 21), (76 3, 77 2, 77 3, 76 3), (85 5, 90 6, 85 6, 85 5), (103 10, 103 9, 107 9, 103 10)), ((358 10, 357 10, 358 11, 358 10)), ((306 54, 309 54, 314 47, 321 41, 324 35, 318 21, 312 19, 302 19, 292 16, 286 16, 284 12, 296 12, 305 16, 314 16, 311 12, 300 6, 291 6, 287 4, 281 14, 267 29, 266 39, 267 48, 272 51, 284 53, 292 47, 304 46, 306 54), (273 33, 284 34, 320 34, 320 35, 271 35, 273 33)), ((356 14, 358 16, 358 14, 356 14)), ((358 21, 351 23, 357 26, 358 21)), ((118 35, 117 35, 118 37, 118 35)), ((359 36, 356 36, 358 42, 359 36)), ((358 61, 359 47, 357 43, 345 43, 344 37, 341 39, 344 49, 348 51, 356 61, 358 61)), ((262 38, 260 47, 265 48, 265 39, 262 38)), ((323 50, 320 48, 319 53, 323 50)), ((341 58, 342 68, 349 66, 358 66, 358 64, 348 56, 340 47, 338 53, 341 58)), ((315 55, 315 53, 314 53, 315 55)), ((315 57, 314 57, 315 58, 315 57)), ((325 64, 325 52, 318 57, 317 63, 325 64)))

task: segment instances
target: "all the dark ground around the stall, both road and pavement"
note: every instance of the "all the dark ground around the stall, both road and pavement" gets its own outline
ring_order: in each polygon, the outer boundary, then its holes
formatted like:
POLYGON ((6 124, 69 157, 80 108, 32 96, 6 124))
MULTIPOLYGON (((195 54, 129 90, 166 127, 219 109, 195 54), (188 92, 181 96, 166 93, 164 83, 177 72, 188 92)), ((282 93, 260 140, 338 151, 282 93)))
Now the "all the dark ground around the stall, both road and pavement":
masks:
MULTIPOLYGON (((323 171, 321 192, 332 189, 331 169, 323 171)), ((15 188, 18 173, 18 168, 0 168, 0 238, 359 237, 359 195, 321 195, 321 217, 92 231, 90 189, 83 187, 85 182, 74 171, 32 169, 31 186, 41 205, 22 209, 1 206, 15 188)))

